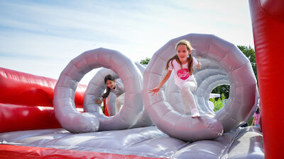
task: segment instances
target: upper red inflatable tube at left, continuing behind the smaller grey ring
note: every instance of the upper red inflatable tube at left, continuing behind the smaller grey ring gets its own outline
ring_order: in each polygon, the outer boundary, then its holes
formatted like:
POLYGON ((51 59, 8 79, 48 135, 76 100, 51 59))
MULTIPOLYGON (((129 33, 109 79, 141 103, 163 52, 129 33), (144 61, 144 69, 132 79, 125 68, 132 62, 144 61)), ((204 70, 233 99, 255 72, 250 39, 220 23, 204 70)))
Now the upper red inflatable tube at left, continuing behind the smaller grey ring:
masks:
MULTIPOLYGON (((53 107, 56 80, 0 67, 0 102, 15 105, 53 107)), ((84 91, 79 85, 75 93, 76 107, 83 107, 84 91)))

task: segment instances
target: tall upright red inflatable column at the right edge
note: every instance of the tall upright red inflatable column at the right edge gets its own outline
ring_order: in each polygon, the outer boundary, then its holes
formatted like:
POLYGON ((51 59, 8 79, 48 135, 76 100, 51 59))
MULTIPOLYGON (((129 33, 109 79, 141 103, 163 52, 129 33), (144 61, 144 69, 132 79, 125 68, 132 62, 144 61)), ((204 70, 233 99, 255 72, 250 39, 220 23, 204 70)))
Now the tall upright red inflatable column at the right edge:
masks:
POLYGON ((284 156, 284 1, 250 0, 265 158, 284 156))

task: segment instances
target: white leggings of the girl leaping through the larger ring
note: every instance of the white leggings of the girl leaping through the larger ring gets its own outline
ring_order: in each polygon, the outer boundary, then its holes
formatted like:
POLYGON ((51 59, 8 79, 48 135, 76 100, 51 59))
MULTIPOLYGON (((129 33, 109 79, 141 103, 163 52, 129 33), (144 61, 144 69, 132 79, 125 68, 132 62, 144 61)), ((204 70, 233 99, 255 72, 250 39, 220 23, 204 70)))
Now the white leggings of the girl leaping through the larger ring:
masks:
POLYGON ((193 97, 192 91, 197 89, 197 82, 187 81, 180 88, 180 98, 182 100, 182 105, 185 107, 185 114, 190 114, 193 109, 197 110, 195 98, 193 97))

